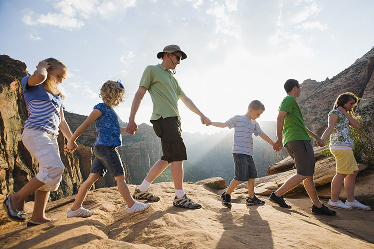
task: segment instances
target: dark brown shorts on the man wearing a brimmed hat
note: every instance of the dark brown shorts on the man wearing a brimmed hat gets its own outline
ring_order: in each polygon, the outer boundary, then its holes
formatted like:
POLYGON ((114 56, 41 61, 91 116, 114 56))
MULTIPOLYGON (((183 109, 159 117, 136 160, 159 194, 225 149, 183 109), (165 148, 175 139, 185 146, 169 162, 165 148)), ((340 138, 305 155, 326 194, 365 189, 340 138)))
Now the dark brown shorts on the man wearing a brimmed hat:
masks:
POLYGON ((178 117, 161 117, 158 120, 151 120, 151 123, 156 135, 161 138, 164 153, 161 160, 168 161, 168 163, 187 160, 181 122, 178 117))

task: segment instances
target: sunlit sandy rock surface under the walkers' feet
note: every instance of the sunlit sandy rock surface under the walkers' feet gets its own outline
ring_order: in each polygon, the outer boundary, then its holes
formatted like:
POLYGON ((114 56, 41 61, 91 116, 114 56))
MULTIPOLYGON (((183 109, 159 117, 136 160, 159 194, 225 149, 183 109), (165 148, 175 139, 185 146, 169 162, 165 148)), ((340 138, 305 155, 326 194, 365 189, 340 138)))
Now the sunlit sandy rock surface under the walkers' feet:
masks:
MULTIPOLYGON (((314 216, 306 196, 287 199, 291 210, 261 196, 265 205, 247 207, 243 188, 233 192, 230 210, 220 203, 224 190, 192 183, 185 189, 200 210, 174 207, 173 183, 153 184, 161 200, 135 215, 127 214, 116 187, 89 192, 83 206, 96 213, 88 218, 66 217, 74 196, 49 203, 46 215, 56 221, 36 227, 9 222, 1 210, 0 248, 373 248, 373 211, 314 216)), ((25 208, 32 210, 32 202, 25 208)))

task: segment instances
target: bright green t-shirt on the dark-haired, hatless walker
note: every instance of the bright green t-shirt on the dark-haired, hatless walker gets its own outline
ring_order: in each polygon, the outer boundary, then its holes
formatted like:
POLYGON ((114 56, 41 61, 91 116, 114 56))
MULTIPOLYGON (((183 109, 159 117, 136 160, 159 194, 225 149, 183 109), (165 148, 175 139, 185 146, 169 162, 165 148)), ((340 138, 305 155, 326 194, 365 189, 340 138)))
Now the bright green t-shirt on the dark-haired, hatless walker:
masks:
POLYGON ((287 112, 287 115, 284 117, 283 146, 287 142, 295 140, 311 141, 305 128, 303 115, 293 96, 288 95, 282 100, 279 111, 287 112))

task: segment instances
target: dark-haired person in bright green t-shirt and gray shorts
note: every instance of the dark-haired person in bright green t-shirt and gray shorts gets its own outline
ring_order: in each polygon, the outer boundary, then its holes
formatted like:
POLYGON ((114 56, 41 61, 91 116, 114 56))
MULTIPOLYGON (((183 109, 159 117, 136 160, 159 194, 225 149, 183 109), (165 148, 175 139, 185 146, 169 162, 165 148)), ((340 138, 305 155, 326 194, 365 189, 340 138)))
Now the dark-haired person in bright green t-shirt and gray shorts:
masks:
POLYGON ((283 199, 283 194, 304 182, 304 187, 313 202, 312 213, 315 215, 335 216, 335 211, 328 209, 320 202, 314 186, 313 174, 316 160, 309 136, 315 138, 318 144, 321 144, 322 141, 316 134, 305 127, 303 115, 296 102, 296 98, 299 97, 301 92, 300 84, 295 79, 288 79, 284 83, 284 89, 287 96, 279 106, 276 124, 277 141, 273 148, 275 151, 281 150, 283 146, 286 148, 288 154, 295 161, 296 174, 288 178, 277 191, 271 193, 269 200, 282 208, 291 208, 283 199))

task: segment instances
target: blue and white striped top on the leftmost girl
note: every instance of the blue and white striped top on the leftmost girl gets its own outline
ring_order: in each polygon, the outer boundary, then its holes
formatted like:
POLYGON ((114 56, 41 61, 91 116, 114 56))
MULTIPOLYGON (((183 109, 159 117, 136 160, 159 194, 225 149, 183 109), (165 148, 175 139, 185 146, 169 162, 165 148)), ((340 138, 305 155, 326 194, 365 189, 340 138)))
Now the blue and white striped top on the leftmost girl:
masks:
POLYGON ((46 91, 42 84, 27 86, 29 77, 23 77, 21 80, 23 96, 28 111, 28 118, 25 121, 24 128, 58 135, 58 127, 61 123, 60 108, 63 101, 62 96, 53 95, 46 91))

